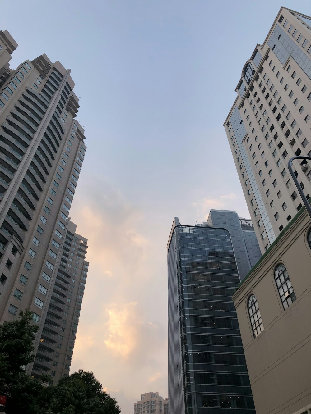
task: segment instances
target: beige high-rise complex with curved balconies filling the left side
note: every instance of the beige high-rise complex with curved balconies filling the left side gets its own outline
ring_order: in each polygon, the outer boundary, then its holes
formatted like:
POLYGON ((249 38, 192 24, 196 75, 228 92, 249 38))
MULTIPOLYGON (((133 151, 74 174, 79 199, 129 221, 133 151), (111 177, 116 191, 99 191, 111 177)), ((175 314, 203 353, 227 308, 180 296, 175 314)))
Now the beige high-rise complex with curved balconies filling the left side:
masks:
POLYGON ((0 322, 30 309, 34 376, 68 375, 88 262, 69 217, 85 155, 70 70, 46 55, 9 67, 0 31, 0 322))

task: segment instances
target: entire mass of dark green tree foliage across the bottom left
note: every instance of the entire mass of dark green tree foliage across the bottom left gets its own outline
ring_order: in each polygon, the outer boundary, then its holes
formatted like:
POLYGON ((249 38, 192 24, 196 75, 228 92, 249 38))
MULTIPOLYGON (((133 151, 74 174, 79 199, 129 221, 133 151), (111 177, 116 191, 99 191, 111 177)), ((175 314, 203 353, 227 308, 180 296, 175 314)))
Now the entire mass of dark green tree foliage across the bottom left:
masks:
MULTIPOLYGON (((7 414, 119 414, 117 401, 102 390, 92 372, 82 369, 63 377, 55 386, 26 375, 23 366, 34 361, 33 313, 19 313, 13 322, 0 325, 0 395, 7 397, 7 414)), ((51 377, 49 377, 51 378, 51 377)))

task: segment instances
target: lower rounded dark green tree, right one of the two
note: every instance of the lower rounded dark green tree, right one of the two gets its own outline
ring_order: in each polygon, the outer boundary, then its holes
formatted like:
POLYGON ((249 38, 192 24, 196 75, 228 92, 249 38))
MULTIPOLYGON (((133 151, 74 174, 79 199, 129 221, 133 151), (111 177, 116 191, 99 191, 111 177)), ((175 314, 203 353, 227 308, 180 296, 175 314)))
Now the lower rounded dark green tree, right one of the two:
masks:
POLYGON ((51 414, 119 414, 117 401, 102 390, 92 372, 82 369, 63 377, 55 387, 50 387, 48 413, 51 414))

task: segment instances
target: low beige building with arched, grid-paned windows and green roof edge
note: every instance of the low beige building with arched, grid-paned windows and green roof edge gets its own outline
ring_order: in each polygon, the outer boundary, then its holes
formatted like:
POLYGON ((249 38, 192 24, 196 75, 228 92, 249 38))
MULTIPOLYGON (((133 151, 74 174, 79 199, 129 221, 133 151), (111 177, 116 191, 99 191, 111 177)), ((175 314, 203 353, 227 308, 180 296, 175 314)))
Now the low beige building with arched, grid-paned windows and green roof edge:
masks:
POLYGON ((233 295, 257 414, 311 412, 311 220, 303 208, 233 295))

